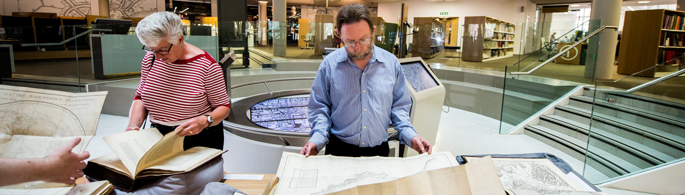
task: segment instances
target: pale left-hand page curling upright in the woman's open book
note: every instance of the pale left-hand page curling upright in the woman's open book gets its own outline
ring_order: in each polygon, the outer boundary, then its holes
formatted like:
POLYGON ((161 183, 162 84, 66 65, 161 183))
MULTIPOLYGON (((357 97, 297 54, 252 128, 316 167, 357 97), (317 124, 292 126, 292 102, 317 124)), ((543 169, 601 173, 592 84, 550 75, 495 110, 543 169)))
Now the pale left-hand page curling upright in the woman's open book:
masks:
POLYGON ((156 128, 121 132, 103 138, 134 178, 142 156, 161 139, 162 133, 156 128))

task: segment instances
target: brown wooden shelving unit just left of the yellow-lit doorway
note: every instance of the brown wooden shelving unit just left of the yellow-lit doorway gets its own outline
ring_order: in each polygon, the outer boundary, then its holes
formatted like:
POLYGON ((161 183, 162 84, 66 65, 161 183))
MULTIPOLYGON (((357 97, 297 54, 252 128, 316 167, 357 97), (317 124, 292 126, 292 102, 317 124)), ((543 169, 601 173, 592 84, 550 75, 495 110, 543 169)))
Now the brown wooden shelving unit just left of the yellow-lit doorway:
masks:
POLYGON ((419 31, 412 35, 412 57, 432 58, 445 48, 445 23, 438 18, 414 17, 414 27, 419 31))

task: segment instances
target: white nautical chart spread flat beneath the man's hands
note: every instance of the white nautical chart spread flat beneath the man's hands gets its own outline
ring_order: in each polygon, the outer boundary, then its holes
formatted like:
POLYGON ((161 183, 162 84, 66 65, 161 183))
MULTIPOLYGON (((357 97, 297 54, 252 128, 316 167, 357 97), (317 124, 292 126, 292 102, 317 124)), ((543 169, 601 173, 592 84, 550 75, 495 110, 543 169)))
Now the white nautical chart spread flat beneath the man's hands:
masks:
POLYGON ((276 194, 329 194, 358 185, 382 183, 427 170, 457 166, 449 152, 412 157, 304 157, 284 152, 276 194))

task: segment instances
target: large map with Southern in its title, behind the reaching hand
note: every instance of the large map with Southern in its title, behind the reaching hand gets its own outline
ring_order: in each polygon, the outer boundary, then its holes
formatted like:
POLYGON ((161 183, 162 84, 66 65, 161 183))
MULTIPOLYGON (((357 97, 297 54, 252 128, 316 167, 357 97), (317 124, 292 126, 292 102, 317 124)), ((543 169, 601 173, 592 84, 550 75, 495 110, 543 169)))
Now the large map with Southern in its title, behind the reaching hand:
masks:
MULTIPOLYGON (((0 157, 45 157, 75 137, 82 141, 72 152, 82 153, 95 136, 106 95, 0 85, 0 157)), ((36 181, 5 186, 0 194, 66 194, 71 188, 36 181)))

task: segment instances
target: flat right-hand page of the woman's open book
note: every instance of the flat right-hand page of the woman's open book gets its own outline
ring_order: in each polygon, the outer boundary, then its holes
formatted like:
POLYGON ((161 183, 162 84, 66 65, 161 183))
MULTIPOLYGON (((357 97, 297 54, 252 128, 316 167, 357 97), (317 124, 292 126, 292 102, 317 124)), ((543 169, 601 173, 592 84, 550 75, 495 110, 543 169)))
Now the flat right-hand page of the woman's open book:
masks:
POLYGON ((173 170, 173 171, 188 171, 197 166, 212 160, 217 155, 221 155, 222 151, 208 147, 193 147, 186 151, 177 153, 173 157, 158 162, 150 166, 148 169, 159 170, 173 170))

